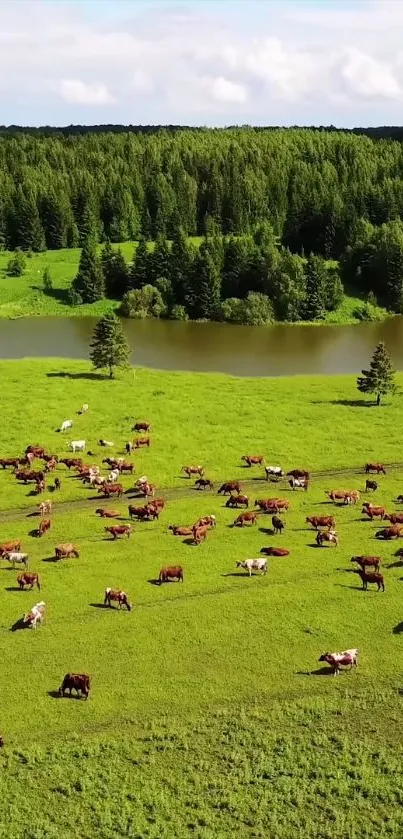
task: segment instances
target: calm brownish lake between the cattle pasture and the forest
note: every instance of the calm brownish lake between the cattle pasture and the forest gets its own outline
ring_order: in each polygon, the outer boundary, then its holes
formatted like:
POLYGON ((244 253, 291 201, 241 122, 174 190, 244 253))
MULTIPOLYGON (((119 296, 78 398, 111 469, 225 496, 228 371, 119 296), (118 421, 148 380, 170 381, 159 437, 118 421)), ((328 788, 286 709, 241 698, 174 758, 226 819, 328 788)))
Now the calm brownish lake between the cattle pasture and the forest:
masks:
MULTIPOLYGON (((88 358, 95 318, 0 321, 0 357, 88 358)), ((237 376, 357 373, 384 340, 403 369, 403 316, 350 326, 234 326, 124 320, 133 363, 163 370, 219 371, 237 376)))

